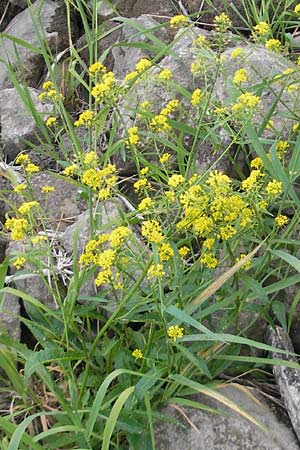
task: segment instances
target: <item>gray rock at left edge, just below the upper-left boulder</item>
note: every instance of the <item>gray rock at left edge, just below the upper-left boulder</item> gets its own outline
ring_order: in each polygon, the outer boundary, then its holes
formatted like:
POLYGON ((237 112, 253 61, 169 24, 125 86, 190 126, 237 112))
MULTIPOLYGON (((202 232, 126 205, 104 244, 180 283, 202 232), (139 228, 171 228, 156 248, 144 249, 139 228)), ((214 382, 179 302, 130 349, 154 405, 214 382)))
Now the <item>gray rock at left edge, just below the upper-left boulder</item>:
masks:
MULTIPOLYGON (((29 93, 37 113, 46 117, 52 110, 52 106, 39 102, 39 91, 36 89, 29 88, 29 93)), ((2 91, 0 89, 0 125, 3 156, 8 161, 13 160, 21 150, 26 148, 25 140, 37 142, 38 128, 34 117, 26 109, 15 88, 2 91)))

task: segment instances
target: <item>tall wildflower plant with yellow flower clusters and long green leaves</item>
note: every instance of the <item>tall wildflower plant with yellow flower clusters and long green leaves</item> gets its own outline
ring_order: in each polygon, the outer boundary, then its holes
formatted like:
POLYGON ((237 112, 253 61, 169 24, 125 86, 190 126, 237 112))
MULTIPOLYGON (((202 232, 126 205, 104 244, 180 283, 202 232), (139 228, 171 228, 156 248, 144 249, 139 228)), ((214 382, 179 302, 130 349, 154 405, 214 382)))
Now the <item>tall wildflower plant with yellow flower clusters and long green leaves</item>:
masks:
MULTIPOLYGON (((16 295, 28 307, 22 321, 35 340, 33 350, 0 336, 11 379, 3 389, 14 393, 16 405, 1 422, 4 444, 11 435, 36 449, 107 450, 110 443, 141 448, 145 436, 154 442, 154 412, 169 401, 184 402, 189 380, 211 385, 224 370, 240 375, 263 366, 259 357, 254 364, 239 359, 249 346, 274 350, 251 340, 248 328, 257 317, 273 323, 276 286, 295 278, 286 250, 299 220, 297 156, 288 158, 297 149, 298 128, 287 140, 261 139, 250 119, 263 99, 260 86, 248 87, 246 66, 230 80, 226 104, 213 98, 230 17, 216 16, 211 39, 195 33, 195 83, 188 90, 160 67, 159 58, 142 58, 118 79, 95 53, 101 32, 92 3, 89 64, 70 50, 88 99, 76 113, 66 108, 43 52, 51 80, 42 85, 40 101, 50 101, 53 110, 42 126, 62 149, 53 183, 39 187, 44 203, 34 190, 41 169, 28 153, 12 166, 20 179, 7 172, 17 200, 7 202, 2 233, 20 251, 3 262, 1 274, 11 264, 15 280, 39 277, 55 308, 9 286, 10 275, 6 285, 1 277, 3 298, 16 295), (152 101, 153 84, 165 94, 161 104, 152 101), (143 101, 127 111, 136 89, 143 89, 143 101), (233 144, 245 155, 245 168, 232 158, 234 176, 197 166, 197 145, 211 139, 217 147, 220 129, 231 140, 221 158, 233 144), (128 161, 134 169, 124 175, 128 161), (58 195, 56 178, 76 186, 86 204, 88 235, 82 244, 82 224, 75 228, 72 254, 62 250, 61 235, 47 219, 47 199, 58 195), (241 324, 249 312, 253 319, 241 324), (26 429, 29 420, 32 428, 26 429)), ((81 2, 76 4, 87 24, 81 2)), ((191 28, 184 15, 163 26, 180 33, 191 28)), ((253 32, 267 48, 280 49, 268 21, 259 21, 253 32)), ((243 49, 233 49, 231 58, 243 58, 243 49)), ((191 384, 188 393, 194 391, 191 384)))

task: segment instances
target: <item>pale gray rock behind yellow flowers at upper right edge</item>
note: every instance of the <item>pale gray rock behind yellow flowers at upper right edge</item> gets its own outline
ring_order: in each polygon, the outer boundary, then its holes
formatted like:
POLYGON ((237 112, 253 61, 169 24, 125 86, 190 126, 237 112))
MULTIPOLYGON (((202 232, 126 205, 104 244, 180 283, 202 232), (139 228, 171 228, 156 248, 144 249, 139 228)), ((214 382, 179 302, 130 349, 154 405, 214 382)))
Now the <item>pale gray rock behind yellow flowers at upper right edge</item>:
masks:
MULTIPOLYGON (((230 57, 231 52, 232 48, 227 49, 221 55, 224 63, 214 86, 213 94, 215 98, 221 103, 228 103, 229 101, 233 103, 235 98, 233 98, 234 91, 231 80, 236 70, 246 68, 248 81, 243 84, 243 91, 250 90, 252 92, 253 89, 251 88, 256 86, 259 88, 260 85, 265 84, 260 95, 261 103, 251 119, 252 123, 257 127, 261 125, 275 105, 271 119, 274 122, 273 127, 276 132, 268 130, 264 136, 274 138, 278 135, 283 139, 297 120, 293 111, 299 107, 299 92, 288 93, 286 88, 283 89, 284 85, 287 87, 293 82, 299 81, 297 67, 284 56, 253 44, 243 48, 241 57, 232 59, 230 57), (285 76, 281 80, 276 79, 276 76, 281 76, 287 69, 294 69, 295 73, 285 76)), ((241 93, 237 88, 235 92, 236 97, 241 93)))

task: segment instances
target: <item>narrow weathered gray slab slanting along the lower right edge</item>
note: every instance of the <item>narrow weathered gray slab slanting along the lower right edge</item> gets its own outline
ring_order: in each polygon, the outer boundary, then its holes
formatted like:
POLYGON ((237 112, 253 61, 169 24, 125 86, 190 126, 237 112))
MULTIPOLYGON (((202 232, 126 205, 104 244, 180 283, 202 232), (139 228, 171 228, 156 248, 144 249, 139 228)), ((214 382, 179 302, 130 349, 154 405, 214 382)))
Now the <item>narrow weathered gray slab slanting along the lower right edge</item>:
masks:
MULTIPOLYGON (((276 326, 275 329, 268 328, 267 343, 273 347, 294 353, 293 344, 288 334, 279 326, 276 326)), ((282 353, 273 352, 272 357, 283 361, 297 362, 295 357, 282 353)), ((273 366, 273 373, 291 423, 300 441, 300 372, 290 367, 273 366)))

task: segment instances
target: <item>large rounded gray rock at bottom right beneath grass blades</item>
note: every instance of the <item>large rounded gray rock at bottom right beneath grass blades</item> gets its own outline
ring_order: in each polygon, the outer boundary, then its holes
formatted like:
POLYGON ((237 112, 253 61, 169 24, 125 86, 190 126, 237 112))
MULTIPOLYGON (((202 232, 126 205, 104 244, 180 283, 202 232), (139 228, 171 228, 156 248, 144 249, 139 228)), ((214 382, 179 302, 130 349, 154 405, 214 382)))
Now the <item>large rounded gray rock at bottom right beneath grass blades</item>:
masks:
POLYGON ((203 394, 195 400, 224 411, 226 416, 183 407, 181 413, 168 406, 163 412, 176 417, 178 425, 161 422, 156 426, 157 450, 299 450, 293 432, 278 420, 268 404, 253 389, 250 395, 233 387, 223 387, 218 394, 238 404, 267 428, 257 425, 203 394), (257 403, 258 402, 258 403, 257 403), (186 420, 188 418, 188 421, 186 420))

